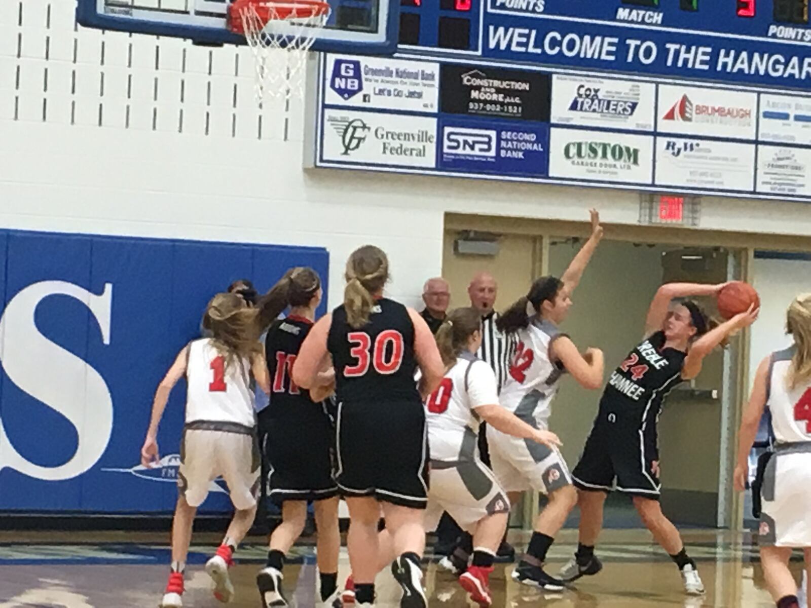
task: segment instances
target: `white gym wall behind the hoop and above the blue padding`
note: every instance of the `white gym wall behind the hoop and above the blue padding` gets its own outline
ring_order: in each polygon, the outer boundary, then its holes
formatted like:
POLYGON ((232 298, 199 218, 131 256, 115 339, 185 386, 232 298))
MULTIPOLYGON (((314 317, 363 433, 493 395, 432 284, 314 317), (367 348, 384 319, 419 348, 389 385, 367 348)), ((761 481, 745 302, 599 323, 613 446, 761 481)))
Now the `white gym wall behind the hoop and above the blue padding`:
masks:
MULTIPOLYGON (((415 303, 444 212, 637 223, 633 192, 305 173, 303 105, 257 110, 247 49, 76 28, 74 8, 0 2, 2 227, 326 246, 331 303, 346 255, 373 242, 390 293, 415 303)), ((808 234, 811 207, 708 197, 702 228, 808 234)))

